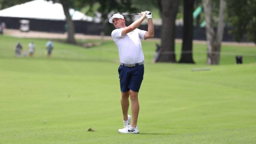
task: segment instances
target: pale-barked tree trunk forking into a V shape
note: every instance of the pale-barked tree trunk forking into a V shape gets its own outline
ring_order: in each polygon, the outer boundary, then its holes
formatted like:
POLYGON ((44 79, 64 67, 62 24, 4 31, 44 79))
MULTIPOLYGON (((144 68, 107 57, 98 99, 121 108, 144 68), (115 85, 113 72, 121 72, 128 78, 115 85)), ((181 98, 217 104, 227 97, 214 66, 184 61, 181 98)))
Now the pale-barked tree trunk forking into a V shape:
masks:
POLYGON ((213 29, 212 20, 212 4, 210 0, 202 0, 204 8, 204 16, 206 21, 206 37, 207 37, 207 64, 218 65, 220 63, 220 50, 221 42, 224 32, 224 17, 226 0, 220 0, 219 6, 219 21, 217 27, 217 33, 213 29))

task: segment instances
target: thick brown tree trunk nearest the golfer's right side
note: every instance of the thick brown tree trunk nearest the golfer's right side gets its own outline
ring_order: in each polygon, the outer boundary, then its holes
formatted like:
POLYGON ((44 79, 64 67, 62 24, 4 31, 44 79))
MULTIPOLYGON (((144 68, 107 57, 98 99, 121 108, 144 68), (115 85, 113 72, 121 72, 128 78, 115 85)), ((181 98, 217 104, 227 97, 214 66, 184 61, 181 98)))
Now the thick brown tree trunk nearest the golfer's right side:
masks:
POLYGON ((162 0, 162 31, 159 62, 176 62, 175 57, 175 19, 178 11, 179 0, 162 0))

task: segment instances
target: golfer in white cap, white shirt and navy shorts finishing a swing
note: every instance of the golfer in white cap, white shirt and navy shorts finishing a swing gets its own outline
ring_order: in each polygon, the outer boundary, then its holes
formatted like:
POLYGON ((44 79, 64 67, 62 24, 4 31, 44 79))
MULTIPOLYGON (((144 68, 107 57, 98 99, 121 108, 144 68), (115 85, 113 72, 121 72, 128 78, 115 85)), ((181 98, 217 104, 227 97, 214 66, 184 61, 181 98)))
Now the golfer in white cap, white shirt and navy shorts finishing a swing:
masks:
POLYGON ((137 119, 139 114, 138 92, 144 75, 144 55, 140 39, 146 40, 154 37, 154 25, 152 13, 141 12, 141 17, 128 27, 122 15, 114 14, 109 18, 115 30, 111 36, 119 51, 120 66, 118 68, 121 87, 121 106, 123 113, 124 128, 119 129, 120 133, 139 133, 137 119), (137 29, 147 17, 148 31, 137 29), (128 115, 129 96, 132 104, 131 116, 128 115))

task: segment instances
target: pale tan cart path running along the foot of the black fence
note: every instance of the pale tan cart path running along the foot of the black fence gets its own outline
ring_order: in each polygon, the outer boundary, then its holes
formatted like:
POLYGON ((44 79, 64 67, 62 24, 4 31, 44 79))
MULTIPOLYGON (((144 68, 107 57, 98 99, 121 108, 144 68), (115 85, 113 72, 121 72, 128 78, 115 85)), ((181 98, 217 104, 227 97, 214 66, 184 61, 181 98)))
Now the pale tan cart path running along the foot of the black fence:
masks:
MULTIPOLYGON (((21 32, 20 30, 14 29, 5 29, 4 35, 19 37, 19 38, 45 38, 45 39, 65 39, 68 37, 68 33, 53 33, 53 32, 42 32, 42 31, 29 31, 29 32, 21 32)), ((100 35, 84 35, 82 33, 76 33, 75 39, 94 39, 101 40, 102 36, 100 35)), ((111 36, 104 36, 104 40, 112 40, 111 36)), ((151 38, 147 41, 159 41, 160 38, 151 38)), ((175 42, 182 42, 182 39, 175 39, 175 42)), ((193 40, 193 43, 198 44, 207 44, 206 41, 193 40)), ((222 42, 222 45, 238 45, 238 46, 248 46, 254 47, 256 46, 253 42, 222 42)))

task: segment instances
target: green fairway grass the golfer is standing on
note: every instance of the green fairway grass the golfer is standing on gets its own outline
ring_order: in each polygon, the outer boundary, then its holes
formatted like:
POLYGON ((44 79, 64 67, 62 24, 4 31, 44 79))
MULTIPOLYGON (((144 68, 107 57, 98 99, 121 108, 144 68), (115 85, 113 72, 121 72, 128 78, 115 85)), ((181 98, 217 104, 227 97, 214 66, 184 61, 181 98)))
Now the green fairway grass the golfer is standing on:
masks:
POLYGON ((119 59, 112 41, 89 49, 54 41, 51 58, 46 39, 0 36, 0 42, 1 144, 256 143, 256 58, 249 55, 256 47, 222 47, 226 54, 248 54, 242 65, 234 55, 206 65, 204 44, 194 44, 195 65, 152 64, 156 42, 143 42, 140 133, 120 134, 119 59), (33 41, 34 57, 16 58, 18 41, 25 49, 33 41))

